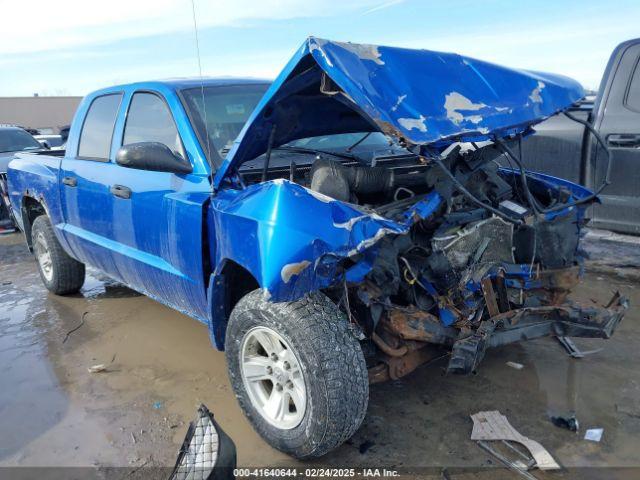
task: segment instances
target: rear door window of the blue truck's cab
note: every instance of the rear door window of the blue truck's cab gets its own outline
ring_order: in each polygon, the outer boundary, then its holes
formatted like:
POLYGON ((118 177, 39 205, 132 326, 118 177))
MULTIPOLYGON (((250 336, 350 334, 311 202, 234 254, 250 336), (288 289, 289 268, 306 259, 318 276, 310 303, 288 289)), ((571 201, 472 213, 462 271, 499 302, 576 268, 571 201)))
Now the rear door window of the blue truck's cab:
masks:
POLYGON ((96 97, 91 102, 80 133, 79 159, 109 161, 121 101, 122 93, 110 93, 96 97))

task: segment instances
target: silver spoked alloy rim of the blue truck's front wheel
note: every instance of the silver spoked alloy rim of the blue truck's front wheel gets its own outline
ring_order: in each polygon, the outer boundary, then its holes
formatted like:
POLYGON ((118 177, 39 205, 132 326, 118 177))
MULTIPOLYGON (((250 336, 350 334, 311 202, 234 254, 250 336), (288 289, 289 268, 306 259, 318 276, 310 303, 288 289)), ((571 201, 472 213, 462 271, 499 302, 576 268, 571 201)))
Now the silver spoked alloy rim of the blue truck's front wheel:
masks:
POLYGON ((297 427, 307 408, 307 389, 300 362, 274 330, 254 327, 240 349, 240 371, 253 406, 271 425, 297 427))

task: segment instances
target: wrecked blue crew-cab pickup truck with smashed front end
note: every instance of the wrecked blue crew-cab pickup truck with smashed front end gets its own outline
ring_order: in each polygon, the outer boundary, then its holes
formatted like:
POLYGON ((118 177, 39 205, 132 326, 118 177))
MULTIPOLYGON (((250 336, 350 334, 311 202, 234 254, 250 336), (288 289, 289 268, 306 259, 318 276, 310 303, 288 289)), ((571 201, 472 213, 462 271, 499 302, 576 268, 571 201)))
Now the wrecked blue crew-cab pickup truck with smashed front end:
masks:
POLYGON ((8 190, 51 292, 77 292, 89 265, 204 322, 255 429, 314 457, 356 431, 370 383, 443 349, 469 373, 491 347, 613 333, 624 298, 567 299, 597 196, 518 155, 583 94, 557 75, 309 38, 272 83, 88 95, 66 150, 18 154, 8 190))

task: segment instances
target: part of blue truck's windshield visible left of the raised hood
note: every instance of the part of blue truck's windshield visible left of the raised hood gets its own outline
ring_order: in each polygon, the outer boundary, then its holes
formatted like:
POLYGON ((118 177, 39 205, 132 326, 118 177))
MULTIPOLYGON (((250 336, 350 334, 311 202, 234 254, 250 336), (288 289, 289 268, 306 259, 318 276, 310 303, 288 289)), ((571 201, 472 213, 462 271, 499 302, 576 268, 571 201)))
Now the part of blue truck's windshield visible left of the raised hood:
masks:
POLYGON ((207 148, 208 132, 211 148, 224 158, 267 88, 268 84, 247 84, 182 90, 185 107, 203 148, 207 148))

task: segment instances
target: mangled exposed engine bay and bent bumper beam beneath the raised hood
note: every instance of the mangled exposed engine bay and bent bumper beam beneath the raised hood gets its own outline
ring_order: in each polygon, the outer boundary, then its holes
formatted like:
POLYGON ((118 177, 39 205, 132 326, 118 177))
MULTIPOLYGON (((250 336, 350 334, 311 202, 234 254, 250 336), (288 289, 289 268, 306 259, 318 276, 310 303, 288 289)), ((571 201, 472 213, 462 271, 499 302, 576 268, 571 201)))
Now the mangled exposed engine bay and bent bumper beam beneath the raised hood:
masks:
POLYGON ((327 290, 364 333, 372 382, 437 355, 450 354, 449 372, 470 373, 488 347, 546 335, 608 338, 622 318, 626 300, 618 295, 602 309, 567 302, 593 200, 577 205, 569 186, 536 174, 523 182, 519 171, 499 166, 498 147, 457 145, 440 164, 411 155, 372 166, 328 155, 306 168, 291 162, 290 180, 370 215, 400 220, 425 197, 441 199, 407 235, 377 241, 364 281, 327 290))

